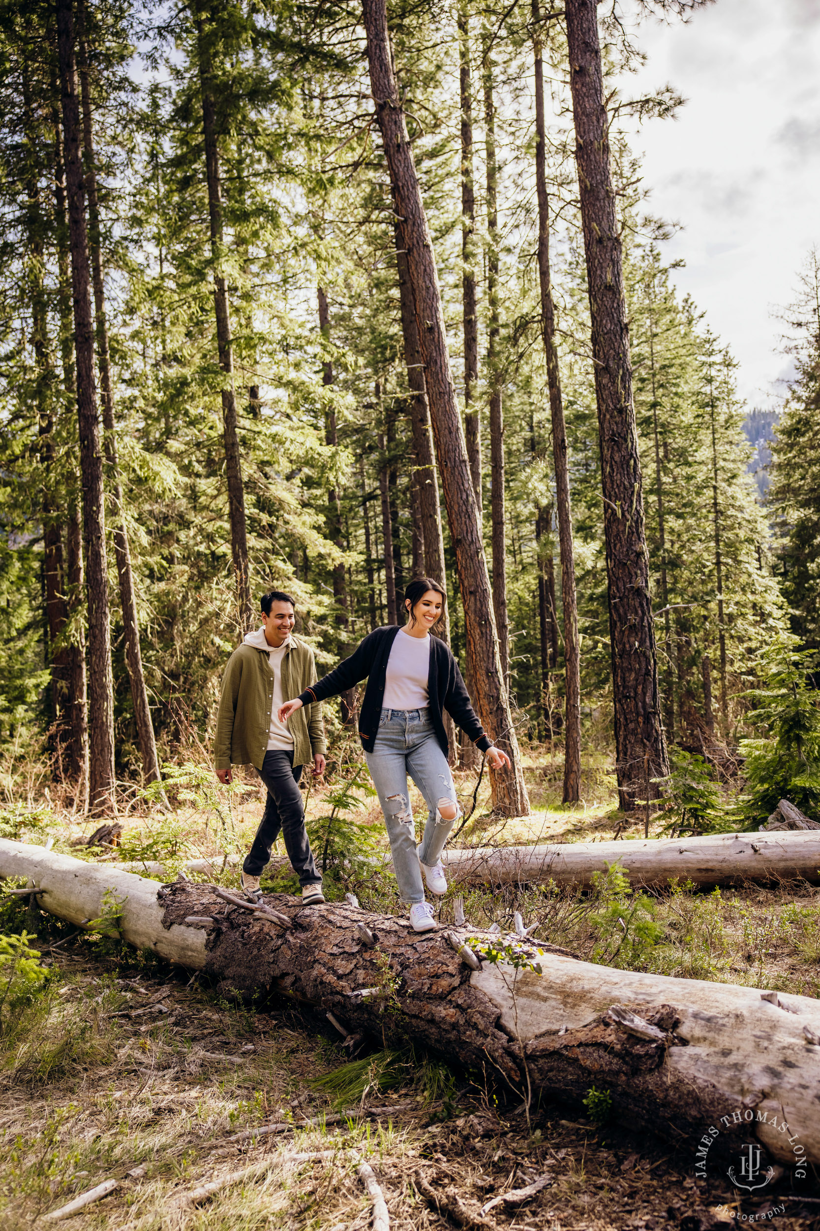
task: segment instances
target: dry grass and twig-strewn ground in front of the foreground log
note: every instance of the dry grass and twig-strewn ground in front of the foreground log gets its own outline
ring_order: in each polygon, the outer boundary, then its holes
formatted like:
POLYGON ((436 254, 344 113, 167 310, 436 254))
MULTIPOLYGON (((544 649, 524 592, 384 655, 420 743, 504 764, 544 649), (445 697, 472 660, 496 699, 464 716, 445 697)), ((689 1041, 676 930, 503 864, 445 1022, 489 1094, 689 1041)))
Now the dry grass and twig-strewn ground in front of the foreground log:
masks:
POLYGON ((548 1176, 522 1206, 488 1214, 483 1225, 499 1231, 702 1231, 735 1220, 820 1227, 820 1190, 798 1198, 787 1176, 744 1197, 724 1176, 697 1181, 691 1146, 675 1150, 556 1104, 534 1108, 527 1125, 518 1099, 429 1062, 406 1066, 404 1081, 400 1070, 391 1088, 332 1123, 313 1082, 345 1056, 321 1018, 280 1004, 237 1009, 181 972, 95 954, 87 942, 53 960, 59 974, 0 1078, 4 1231, 108 1178, 117 1189, 66 1225, 365 1231, 370 1203, 357 1177, 365 1160, 393 1231, 452 1226, 418 1194, 419 1169, 435 1192, 454 1188, 473 1217, 548 1176), (157 1020, 156 1008, 145 1009, 160 1003, 167 1012, 157 1020), (251 1134, 322 1113, 331 1123, 251 1134), (234 1182, 197 1206, 178 1201, 229 1174, 234 1182))

